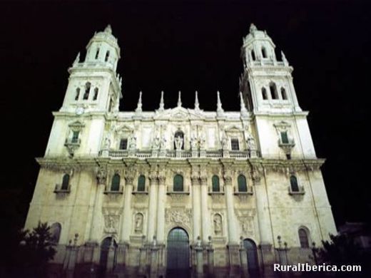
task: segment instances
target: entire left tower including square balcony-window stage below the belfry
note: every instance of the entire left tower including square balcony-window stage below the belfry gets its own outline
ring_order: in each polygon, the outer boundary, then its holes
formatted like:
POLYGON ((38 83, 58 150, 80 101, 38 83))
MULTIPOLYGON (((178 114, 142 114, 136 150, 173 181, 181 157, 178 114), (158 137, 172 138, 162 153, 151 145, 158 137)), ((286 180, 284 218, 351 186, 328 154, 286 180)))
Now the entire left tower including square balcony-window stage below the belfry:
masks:
POLYGON ((71 68, 62 107, 54 112, 46 156, 98 155, 106 118, 118 113, 121 77, 116 73, 120 48, 111 26, 94 34, 86 56, 78 53, 71 68))

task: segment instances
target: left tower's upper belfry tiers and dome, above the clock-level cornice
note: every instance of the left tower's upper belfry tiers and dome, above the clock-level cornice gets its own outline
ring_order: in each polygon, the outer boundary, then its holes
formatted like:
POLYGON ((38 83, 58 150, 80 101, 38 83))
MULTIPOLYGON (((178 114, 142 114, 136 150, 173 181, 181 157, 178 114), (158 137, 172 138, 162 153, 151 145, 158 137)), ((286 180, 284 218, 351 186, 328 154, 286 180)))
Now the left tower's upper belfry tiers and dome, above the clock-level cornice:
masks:
POLYGON ((78 53, 71 68, 61 112, 81 115, 87 112, 117 112, 121 78, 116 74, 120 48, 111 26, 94 34, 86 46, 86 56, 78 53))

